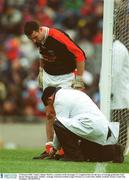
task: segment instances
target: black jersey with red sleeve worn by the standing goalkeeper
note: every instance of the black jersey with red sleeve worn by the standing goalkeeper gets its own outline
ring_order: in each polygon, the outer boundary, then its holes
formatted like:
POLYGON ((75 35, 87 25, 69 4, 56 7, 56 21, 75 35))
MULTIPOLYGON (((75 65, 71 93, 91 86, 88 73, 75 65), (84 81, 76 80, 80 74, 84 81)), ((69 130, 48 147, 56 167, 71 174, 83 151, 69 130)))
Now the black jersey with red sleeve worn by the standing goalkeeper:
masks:
POLYGON ((85 53, 70 37, 50 28, 45 43, 38 44, 44 61, 44 70, 51 75, 63 75, 76 69, 76 61, 85 61, 85 53))

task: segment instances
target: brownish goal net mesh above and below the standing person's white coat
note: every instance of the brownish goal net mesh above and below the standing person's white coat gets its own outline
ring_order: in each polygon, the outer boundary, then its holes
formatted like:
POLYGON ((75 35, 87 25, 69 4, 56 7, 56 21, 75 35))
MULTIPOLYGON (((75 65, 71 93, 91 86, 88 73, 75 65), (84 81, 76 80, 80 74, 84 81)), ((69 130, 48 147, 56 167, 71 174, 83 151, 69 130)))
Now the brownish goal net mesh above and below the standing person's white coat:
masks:
MULTIPOLYGON (((113 27, 115 39, 120 40, 129 50, 129 0, 115 1, 113 27)), ((126 153, 129 147, 129 109, 112 110, 111 119, 120 122, 118 141, 124 146, 126 153)))

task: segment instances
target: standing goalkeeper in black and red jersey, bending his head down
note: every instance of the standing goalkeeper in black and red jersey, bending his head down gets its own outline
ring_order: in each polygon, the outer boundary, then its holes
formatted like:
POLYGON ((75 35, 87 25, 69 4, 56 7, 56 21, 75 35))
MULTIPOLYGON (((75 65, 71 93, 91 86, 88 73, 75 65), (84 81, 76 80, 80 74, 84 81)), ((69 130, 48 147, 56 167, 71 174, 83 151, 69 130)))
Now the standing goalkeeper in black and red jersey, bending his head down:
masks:
MULTIPOLYGON (((55 28, 42 27, 36 21, 27 22, 24 33, 37 46, 42 56, 38 82, 43 90, 48 86, 84 88, 82 74, 86 56, 66 33, 55 28)), ((48 106, 46 116, 47 144, 50 144, 54 134, 54 113, 48 106)), ((34 159, 44 159, 47 156, 48 152, 45 151, 34 159)))

